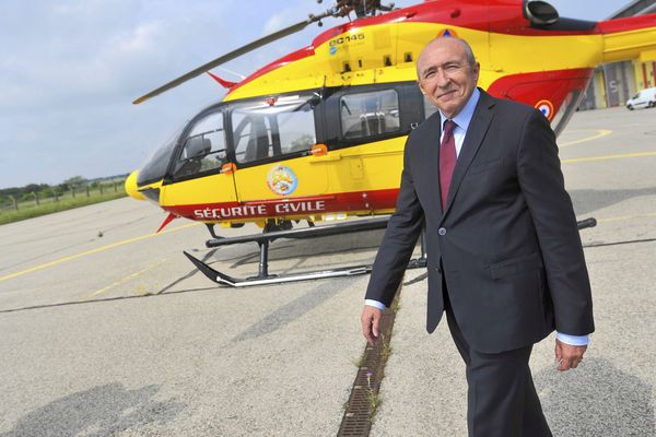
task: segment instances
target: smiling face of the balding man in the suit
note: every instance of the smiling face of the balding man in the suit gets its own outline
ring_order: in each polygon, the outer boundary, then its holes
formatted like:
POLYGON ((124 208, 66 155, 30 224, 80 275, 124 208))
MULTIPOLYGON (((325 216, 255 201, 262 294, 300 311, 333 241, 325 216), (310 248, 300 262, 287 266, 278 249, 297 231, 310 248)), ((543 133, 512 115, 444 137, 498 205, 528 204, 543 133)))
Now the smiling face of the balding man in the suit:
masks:
POLYGON ((480 66, 470 66, 465 47, 452 37, 435 39, 417 61, 419 87, 447 118, 460 113, 478 83, 480 66))

